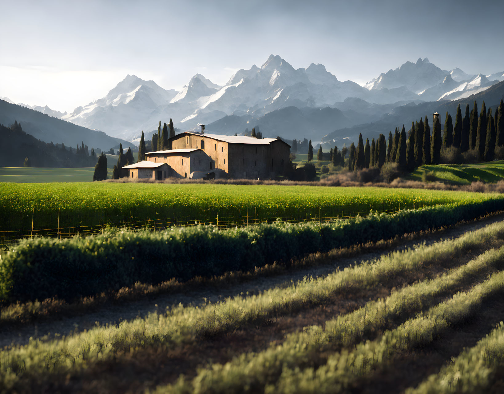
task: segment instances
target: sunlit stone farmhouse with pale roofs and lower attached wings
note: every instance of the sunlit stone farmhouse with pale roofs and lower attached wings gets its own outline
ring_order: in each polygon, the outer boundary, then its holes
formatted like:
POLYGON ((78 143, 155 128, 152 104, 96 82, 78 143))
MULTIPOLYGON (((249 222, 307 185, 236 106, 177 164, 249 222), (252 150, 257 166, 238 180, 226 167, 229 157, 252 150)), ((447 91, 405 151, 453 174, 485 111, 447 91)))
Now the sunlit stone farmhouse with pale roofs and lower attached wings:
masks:
POLYGON ((289 163, 290 145, 274 138, 185 132, 168 140, 172 149, 148 152, 122 167, 131 178, 274 178, 289 163))

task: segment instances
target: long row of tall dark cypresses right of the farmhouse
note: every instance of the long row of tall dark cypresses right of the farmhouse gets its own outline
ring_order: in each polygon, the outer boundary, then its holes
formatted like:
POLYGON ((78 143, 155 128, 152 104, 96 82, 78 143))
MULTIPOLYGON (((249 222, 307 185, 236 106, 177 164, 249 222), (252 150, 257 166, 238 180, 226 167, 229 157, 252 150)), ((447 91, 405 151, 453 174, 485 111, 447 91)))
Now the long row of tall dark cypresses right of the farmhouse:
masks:
POLYGON ((353 143, 350 145, 348 169, 359 170, 370 166, 381 168, 387 162, 395 162, 402 170, 413 171, 423 164, 439 164, 442 151, 452 147, 459 149, 460 152, 473 150, 479 160, 491 161, 495 157, 495 148, 504 146, 503 106, 500 100, 492 116, 492 109, 487 111, 483 101, 478 116, 478 106, 474 101, 471 112, 469 112, 469 104, 466 105, 465 116, 462 118, 459 104, 455 125, 447 112, 443 136, 438 117, 434 118, 435 123, 431 135, 427 116, 425 120, 411 122, 411 128, 407 134, 404 125, 400 132, 397 128, 394 135, 390 132, 388 143, 385 136, 380 134, 376 142, 373 138, 369 144, 369 139, 366 139, 364 145, 362 134, 360 134, 357 148, 353 143))

